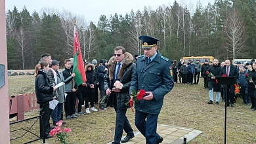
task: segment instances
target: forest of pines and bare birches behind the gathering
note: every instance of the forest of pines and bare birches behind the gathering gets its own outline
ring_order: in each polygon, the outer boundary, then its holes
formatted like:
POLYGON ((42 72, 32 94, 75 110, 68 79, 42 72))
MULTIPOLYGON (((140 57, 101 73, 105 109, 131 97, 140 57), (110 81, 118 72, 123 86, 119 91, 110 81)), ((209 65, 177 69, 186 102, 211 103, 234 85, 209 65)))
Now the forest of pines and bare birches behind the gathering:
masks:
MULTIPOLYGON (((83 16, 67 10, 42 9, 41 12, 7 10, 8 69, 33 69, 41 54, 49 53, 64 62, 73 57, 74 18, 83 58, 108 60, 116 46, 131 54, 143 54, 140 35, 161 39, 163 56, 179 60, 183 56, 256 58, 256 3, 254 0, 215 0, 196 9, 173 3, 152 10, 125 15, 102 14, 98 24, 87 24, 83 16)), ((63 65, 63 63, 61 64, 63 65)))

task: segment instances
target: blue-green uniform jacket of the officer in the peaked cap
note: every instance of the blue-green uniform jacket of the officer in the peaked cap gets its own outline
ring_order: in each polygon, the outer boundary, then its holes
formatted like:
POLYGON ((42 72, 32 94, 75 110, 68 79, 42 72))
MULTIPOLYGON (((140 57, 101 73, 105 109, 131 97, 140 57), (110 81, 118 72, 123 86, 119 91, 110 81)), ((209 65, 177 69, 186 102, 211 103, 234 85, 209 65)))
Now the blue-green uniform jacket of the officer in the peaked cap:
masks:
POLYGON ((146 56, 138 58, 131 81, 130 94, 132 90, 138 92, 143 89, 146 92, 152 92, 154 98, 150 101, 141 99, 135 102, 136 110, 150 114, 160 113, 165 94, 170 92, 174 86, 169 67, 172 67, 171 62, 159 52, 150 63, 147 63, 146 56))

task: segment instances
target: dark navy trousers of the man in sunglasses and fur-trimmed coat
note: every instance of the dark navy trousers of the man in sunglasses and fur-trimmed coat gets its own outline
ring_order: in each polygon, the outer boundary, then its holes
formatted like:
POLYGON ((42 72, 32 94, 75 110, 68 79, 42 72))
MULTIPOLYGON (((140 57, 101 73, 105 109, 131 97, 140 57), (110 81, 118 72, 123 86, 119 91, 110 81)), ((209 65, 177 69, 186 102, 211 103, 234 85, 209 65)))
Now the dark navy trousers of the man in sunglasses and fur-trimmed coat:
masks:
POLYGON ((123 135, 123 130, 127 133, 127 135, 132 136, 133 128, 131 128, 131 124, 126 117, 127 109, 117 109, 116 96, 114 98, 114 109, 116 111, 116 129, 115 129, 115 137, 113 144, 120 143, 121 137, 123 135))

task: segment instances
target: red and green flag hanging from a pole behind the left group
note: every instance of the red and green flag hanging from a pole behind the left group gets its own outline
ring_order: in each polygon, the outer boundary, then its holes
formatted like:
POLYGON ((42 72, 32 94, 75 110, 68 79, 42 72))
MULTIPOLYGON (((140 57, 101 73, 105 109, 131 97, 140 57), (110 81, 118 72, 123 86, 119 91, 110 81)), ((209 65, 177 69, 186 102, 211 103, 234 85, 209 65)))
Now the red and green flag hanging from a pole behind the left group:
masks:
POLYGON ((75 73, 75 83, 77 86, 86 82, 85 67, 83 66, 83 58, 81 54, 80 43, 77 35, 77 31, 74 26, 74 65, 73 72, 75 73))

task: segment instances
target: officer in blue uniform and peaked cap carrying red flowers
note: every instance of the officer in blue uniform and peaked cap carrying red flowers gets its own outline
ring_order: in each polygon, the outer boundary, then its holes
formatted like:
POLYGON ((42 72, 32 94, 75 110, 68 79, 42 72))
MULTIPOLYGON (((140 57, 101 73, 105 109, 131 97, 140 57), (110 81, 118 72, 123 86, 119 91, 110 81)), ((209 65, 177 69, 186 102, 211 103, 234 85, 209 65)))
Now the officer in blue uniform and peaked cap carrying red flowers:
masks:
POLYGON ((161 143, 163 137, 156 133, 158 125, 158 115, 163 106, 165 94, 173 89, 174 81, 170 75, 169 67, 171 62, 161 56, 158 52, 157 42, 160 41, 154 37, 142 35, 142 48, 144 55, 139 56, 133 79, 130 86, 132 90, 139 92, 143 89, 146 96, 138 102, 135 102, 135 125, 144 137, 147 144, 161 143))

